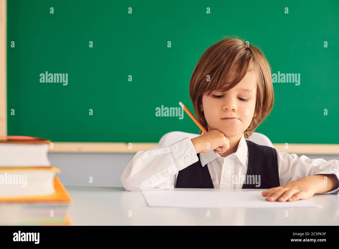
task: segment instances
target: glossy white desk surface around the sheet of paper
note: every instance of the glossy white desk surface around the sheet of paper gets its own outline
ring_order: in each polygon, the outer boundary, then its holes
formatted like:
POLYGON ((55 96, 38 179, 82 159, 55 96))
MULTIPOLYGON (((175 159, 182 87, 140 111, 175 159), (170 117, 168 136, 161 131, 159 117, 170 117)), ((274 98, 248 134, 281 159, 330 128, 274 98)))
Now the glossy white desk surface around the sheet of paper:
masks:
MULTIPOLYGON (((73 202, 73 225, 339 225, 339 197, 316 194, 307 201, 322 208, 163 208, 148 207, 141 191, 120 187, 66 186, 73 202), (210 211, 207 217, 206 211, 210 211), (286 216, 286 210, 288 216, 286 216)), ((266 189, 255 189, 264 191, 266 189)), ((161 190, 159 190, 161 191, 161 190)), ((175 188, 173 191, 187 191, 175 188)), ((253 189, 190 189, 253 191, 253 189)))

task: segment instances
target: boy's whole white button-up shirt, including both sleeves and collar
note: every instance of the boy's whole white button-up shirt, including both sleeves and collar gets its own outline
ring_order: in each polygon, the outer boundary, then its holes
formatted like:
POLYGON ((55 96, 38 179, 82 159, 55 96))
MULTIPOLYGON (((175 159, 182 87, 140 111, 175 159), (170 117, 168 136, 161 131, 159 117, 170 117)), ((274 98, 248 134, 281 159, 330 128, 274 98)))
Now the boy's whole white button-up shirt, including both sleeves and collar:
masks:
MULTIPOLYGON (((339 180, 339 160, 310 159, 305 155, 298 158, 294 153, 276 151, 280 186, 316 174, 335 174, 339 180)), ((207 165, 210 171, 214 188, 242 188, 240 179, 246 175, 248 165, 244 134, 235 153, 220 157, 211 150, 199 155, 202 167, 207 165)), ((196 150, 188 137, 169 146, 158 144, 134 155, 122 172, 121 182, 128 191, 172 189, 176 186, 179 170, 197 161, 196 150)), ((339 195, 339 187, 326 192, 330 193, 339 195)))

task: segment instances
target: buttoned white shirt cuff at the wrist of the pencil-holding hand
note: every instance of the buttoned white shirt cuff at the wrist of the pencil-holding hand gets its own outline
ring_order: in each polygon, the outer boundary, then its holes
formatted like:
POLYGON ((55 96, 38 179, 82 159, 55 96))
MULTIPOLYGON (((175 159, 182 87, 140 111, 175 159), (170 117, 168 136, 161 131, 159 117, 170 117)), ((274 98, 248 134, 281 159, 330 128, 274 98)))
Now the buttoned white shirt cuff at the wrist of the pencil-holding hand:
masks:
POLYGON ((170 145, 169 148, 173 153, 179 170, 182 170, 199 160, 193 143, 188 137, 170 145))

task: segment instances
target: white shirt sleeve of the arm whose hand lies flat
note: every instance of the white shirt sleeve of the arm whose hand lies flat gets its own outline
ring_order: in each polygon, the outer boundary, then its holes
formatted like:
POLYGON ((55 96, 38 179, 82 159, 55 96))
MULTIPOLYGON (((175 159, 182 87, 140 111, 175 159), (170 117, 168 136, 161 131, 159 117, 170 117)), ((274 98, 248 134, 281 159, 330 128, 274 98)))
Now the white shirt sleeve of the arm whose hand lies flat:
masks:
MULTIPOLYGON (((310 159, 305 155, 298 158, 298 155, 288 154, 287 152, 279 152, 278 156, 278 171, 280 186, 286 183, 293 182, 303 177, 317 174, 335 174, 339 181, 339 160, 310 159)), ((339 187, 335 190, 328 191, 323 194, 336 193, 339 195, 339 187)))

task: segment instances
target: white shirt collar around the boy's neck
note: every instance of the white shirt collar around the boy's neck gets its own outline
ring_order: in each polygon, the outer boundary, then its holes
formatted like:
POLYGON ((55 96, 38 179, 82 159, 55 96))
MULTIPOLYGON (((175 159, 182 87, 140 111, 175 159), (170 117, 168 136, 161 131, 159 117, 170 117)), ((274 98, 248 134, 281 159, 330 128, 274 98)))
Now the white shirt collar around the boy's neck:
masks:
MULTIPOLYGON (((203 133, 200 134, 200 136, 203 133)), ((242 133, 240 142, 238 144, 237 151, 235 153, 232 153, 230 155, 235 154, 235 156, 239 159, 239 161, 243 164, 246 165, 246 159, 247 159, 247 143, 244 137, 244 133, 242 133)), ((214 150, 211 150, 207 153, 200 153, 200 162, 202 166, 205 166, 207 163, 211 162, 212 160, 216 158, 222 158, 218 153, 215 153, 214 150)), ((226 157, 230 156, 227 155, 226 157)))

